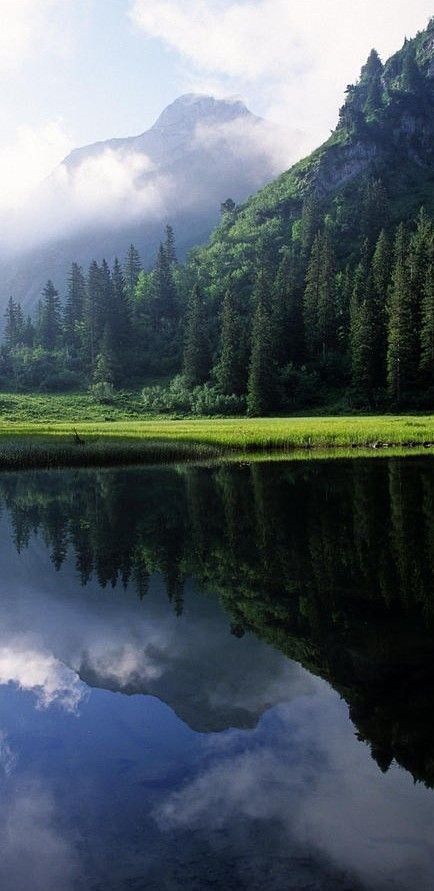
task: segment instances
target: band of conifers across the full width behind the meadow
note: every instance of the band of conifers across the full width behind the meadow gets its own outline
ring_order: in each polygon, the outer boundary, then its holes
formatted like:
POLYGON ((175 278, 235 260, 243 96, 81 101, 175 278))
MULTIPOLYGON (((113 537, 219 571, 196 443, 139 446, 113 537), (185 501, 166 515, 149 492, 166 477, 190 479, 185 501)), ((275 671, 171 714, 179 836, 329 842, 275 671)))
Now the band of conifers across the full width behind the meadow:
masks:
POLYGON ((64 301, 48 281, 33 319, 10 298, 0 378, 28 389, 90 384, 101 398, 171 379, 144 391, 145 407, 159 411, 266 415, 343 394, 360 407, 427 405, 433 220, 422 209, 412 227, 379 230, 382 185, 366 188, 351 262, 311 196, 277 258, 263 247, 247 295, 234 275, 210 297, 194 258, 178 264, 170 226, 151 271, 133 245, 112 269, 94 260, 85 276, 73 263, 64 301))

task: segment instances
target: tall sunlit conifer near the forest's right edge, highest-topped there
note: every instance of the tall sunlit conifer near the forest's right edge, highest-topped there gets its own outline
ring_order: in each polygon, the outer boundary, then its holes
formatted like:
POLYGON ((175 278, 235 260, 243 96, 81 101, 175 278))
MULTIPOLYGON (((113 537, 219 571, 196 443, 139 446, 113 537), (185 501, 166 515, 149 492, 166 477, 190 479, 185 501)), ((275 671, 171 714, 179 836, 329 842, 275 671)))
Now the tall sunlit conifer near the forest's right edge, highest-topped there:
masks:
POLYGON ((388 299, 387 385, 389 395, 400 404, 413 377, 414 340, 412 299, 407 262, 408 238, 404 225, 398 227, 388 299))

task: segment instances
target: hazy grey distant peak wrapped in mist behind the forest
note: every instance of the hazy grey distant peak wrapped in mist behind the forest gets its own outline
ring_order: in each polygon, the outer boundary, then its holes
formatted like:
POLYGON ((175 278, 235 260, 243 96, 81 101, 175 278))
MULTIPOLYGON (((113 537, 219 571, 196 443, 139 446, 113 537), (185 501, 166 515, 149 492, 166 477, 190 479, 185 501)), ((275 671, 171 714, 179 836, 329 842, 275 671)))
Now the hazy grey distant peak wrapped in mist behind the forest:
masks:
POLYGON ((191 93, 139 136, 71 152, 28 219, 8 221, 26 249, 12 247, 0 261, 1 302, 13 294, 29 309, 47 278, 63 290, 72 261, 123 259, 130 243, 149 265, 169 222, 185 256, 207 240, 223 201, 244 200, 275 175, 264 147, 271 131, 242 102, 191 93))

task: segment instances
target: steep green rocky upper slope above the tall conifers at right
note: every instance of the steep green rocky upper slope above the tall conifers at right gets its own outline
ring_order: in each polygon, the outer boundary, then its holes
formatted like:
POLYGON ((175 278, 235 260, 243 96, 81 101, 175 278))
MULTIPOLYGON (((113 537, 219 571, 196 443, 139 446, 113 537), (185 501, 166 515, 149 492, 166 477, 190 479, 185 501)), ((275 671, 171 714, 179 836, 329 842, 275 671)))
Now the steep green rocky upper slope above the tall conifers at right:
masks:
POLYGON ((251 287, 258 253, 266 250, 277 262, 279 249, 299 237, 312 198, 317 224, 327 217, 340 259, 351 261, 374 180, 384 188, 390 227, 414 219, 421 205, 434 214, 434 19, 384 67, 373 52, 359 82, 347 88, 327 142, 226 215, 210 245, 196 252, 203 281, 214 295, 234 275, 238 288, 251 287))

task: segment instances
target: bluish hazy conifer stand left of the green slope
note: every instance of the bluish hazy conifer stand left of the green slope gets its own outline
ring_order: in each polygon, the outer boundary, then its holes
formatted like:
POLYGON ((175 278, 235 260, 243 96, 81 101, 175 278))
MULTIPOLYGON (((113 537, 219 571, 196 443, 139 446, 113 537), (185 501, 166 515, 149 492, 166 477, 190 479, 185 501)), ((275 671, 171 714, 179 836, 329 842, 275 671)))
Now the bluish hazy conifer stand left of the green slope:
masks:
POLYGON ((182 305, 173 230, 167 226, 154 269, 131 245, 123 264, 73 263, 61 299, 47 281, 33 318, 9 299, 0 380, 17 389, 91 385, 109 397, 146 373, 170 374, 180 361, 182 305), (158 366, 158 370, 157 370, 158 366))

